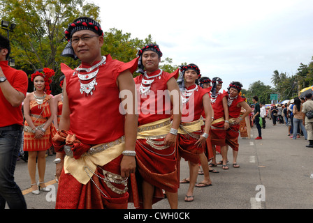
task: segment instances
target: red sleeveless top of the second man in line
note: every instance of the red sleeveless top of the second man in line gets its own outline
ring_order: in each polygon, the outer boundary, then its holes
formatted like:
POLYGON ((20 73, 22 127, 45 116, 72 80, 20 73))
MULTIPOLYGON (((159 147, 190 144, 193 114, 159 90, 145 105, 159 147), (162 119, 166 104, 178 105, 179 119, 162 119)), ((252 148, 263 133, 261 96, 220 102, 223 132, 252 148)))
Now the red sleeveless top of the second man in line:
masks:
MULTIPOLYGON (((150 76, 157 75, 160 70, 152 72, 150 76)), ((170 111, 173 108, 170 105, 170 98, 159 93, 166 91, 168 89, 167 82, 170 78, 176 78, 178 75, 178 70, 173 73, 168 73, 163 71, 162 75, 155 78, 154 82, 151 84, 149 95, 140 95, 140 85, 143 79, 143 75, 138 75, 134 78, 137 96, 138 96, 138 125, 144 125, 147 123, 152 123, 164 118, 170 118, 170 111), (161 104, 159 105, 158 102, 161 104), (157 114, 157 115, 156 115, 157 114)))

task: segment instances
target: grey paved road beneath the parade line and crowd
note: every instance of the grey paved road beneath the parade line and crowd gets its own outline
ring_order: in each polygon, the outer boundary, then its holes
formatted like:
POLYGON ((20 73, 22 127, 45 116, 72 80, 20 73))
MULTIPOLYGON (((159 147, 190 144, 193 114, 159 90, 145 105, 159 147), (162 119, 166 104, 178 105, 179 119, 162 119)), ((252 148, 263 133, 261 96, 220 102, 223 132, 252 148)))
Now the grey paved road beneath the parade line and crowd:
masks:
MULTIPOLYGON (((188 185, 181 185, 178 192, 179 208, 312 209, 313 149, 305 147, 307 141, 303 137, 289 139, 286 136, 287 127, 282 124, 273 126, 268 121, 267 128, 262 132, 262 140, 254 140, 257 134, 255 127, 252 129, 252 139, 240 139, 239 169, 232 167, 232 151, 228 151, 229 169, 214 167, 219 174, 210 174, 213 186, 196 188, 194 202, 184 202, 188 185), (256 201, 256 197, 262 201, 256 201)), ((217 155, 217 160, 220 158, 221 155, 217 155)), ((45 180, 53 190, 57 190, 52 160, 54 157, 47 157, 45 180)), ((180 165, 180 178, 187 178, 187 162, 182 160, 180 165)), ((202 179, 203 176, 198 176, 198 182, 202 179)), ((54 194, 31 194, 27 163, 22 160, 17 162, 15 180, 24 192, 27 208, 54 208, 54 194)), ((163 199, 154 208, 169 208, 168 201, 163 199)))

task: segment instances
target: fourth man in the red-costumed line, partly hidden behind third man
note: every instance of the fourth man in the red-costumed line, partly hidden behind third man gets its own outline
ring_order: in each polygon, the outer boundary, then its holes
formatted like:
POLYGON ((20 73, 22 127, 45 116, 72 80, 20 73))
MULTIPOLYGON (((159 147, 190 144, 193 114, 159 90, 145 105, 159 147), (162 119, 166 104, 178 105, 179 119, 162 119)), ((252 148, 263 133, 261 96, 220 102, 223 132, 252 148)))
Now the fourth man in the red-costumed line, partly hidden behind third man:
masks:
POLYGON ((228 107, 226 94, 220 93, 223 81, 219 77, 212 79, 212 89, 210 90, 210 101, 214 110, 214 117, 210 129, 211 144, 214 157, 210 163, 211 167, 217 166, 215 146, 226 146, 226 130, 229 128, 228 107))

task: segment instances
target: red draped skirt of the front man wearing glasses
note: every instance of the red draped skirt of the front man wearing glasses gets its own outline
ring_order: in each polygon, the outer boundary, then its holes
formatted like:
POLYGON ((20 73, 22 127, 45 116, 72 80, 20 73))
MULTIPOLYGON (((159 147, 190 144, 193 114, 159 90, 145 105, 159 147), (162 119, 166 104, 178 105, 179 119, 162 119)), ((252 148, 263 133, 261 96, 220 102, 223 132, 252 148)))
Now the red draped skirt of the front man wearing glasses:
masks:
MULTIPOLYGON (((105 164, 102 169, 114 174, 120 174, 120 162, 122 155, 105 164)), ((90 173, 89 173, 90 174, 90 173)), ((103 177, 102 170, 96 169, 96 174, 103 177)), ((86 185, 79 183, 71 174, 65 174, 64 170, 59 178, 57 191, 56 209, 126 209, 129 193, 117 194, 97 176, 92 176, 92 180, 86 185), (108 197, 101 194, 100 190, 94 185, 98 185, 101 191, 108 197)), ((124 189, 124 185, 112 183, 119 189, 124 189)))

